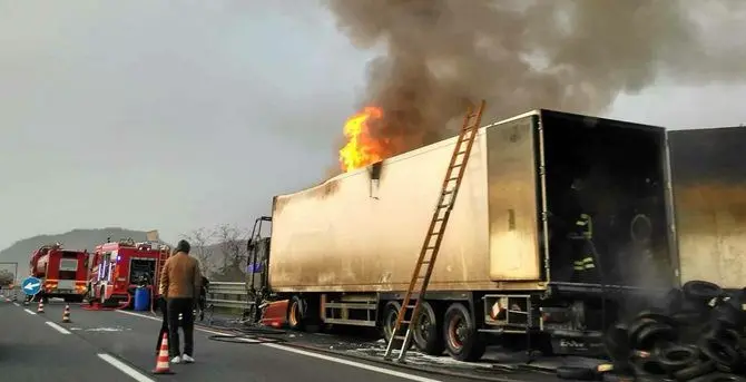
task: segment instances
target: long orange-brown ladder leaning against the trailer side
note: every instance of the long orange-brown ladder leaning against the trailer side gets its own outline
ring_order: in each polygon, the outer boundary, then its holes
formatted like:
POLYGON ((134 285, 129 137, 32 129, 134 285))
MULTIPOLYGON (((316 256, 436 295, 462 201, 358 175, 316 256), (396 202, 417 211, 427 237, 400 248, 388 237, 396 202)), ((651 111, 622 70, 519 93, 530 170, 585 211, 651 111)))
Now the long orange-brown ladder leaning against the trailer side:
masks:
POLYGON ((441 193, 440 197, 438 198, 435 212, 433 213, 432 219, 430 221, 430 227, 428 228, 428 234, 425 235, 424 243, 420 249, 420 256, 418 257, 418 262, 414 266, 410 286, 406 290, 404 301, 402 302, 402 306, 399 310, 399 314, 396 316, 396 323, 391 331, 391 337, 389 339, 389 344, 386 345, 386 352, 383 355, 384 360, 391 359, 394 342, 401 340, 403 340, 403 343, 397 361, 403 362, 406 357, 406 350, 412 342, 412 323, 416 324, 420 317, 422 302, 424 301, 425 292, 428 291, 428 284, 430 283, 430 276, 432 275, 433 268, 435 266, 435 259, 438 258, 441 242, 443 241, 443 233, 448 226, 448 221, 451 216, 451 209, 453 209, 453 204, 455 203, 459 187, 461 187, 463 174, 467 170, 467 164, 469 163, 471 148, 474 145, 477 133, 479 131, 480 123, 482 120, 482 112, 484 111, 484 100, 482 100, 477 108, 469 106, 467 115, 463 118, 463 125, 461 127, 461 131, 459 133, 455 147, 453 148, 453 154, 451 155, 451 161, 449 163, 448 169, 445 172, 443 185, 441 186, 441 193), (422 267, 423 265, 425 265, 424 273, 422 267), (414 293, 414 291, 418 288, 418 284, 420 284, 419 293, 414 293), (413 297, 413 295, 416 295, 416 297, 413 297), (414 305, 410 305, 412 300, 415 301, 414 305), (410 310, 412 310, 410 319, 404 320, 408 311, 410 310), (402 336, 399 335, 399 333, 403 326, 406 326, 406 334, 402 336))

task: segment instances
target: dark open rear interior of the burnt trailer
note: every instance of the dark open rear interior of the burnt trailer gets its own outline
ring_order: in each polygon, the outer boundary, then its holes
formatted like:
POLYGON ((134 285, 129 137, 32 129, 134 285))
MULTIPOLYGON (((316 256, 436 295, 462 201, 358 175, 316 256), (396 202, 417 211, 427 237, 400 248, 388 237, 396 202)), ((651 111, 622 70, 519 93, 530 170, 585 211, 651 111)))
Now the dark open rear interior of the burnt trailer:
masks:
POLYGON ((549 110, 541 124, 550 281, 675 285, 666 130, 549 110), (595 257, 585 241, 571 238, 583 214, 592 221, 587 226, 598 258, 578 281, 579 253, 595 257))

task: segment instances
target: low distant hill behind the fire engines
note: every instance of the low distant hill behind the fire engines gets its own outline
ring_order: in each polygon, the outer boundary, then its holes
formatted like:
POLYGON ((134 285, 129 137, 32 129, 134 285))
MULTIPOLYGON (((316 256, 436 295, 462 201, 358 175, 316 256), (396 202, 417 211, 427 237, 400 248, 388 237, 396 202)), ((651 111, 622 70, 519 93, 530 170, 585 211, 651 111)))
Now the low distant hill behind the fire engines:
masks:
MULTIPOLYGON (((18 273, 26 275, 31 253, 45 244, 61 243, 62 247, 68 249, 88 249, 88 252, 92 252, 96 245, 106 243, 107 237, 111 237, 111 241, 131 237, 135 242, 144 242, 146 239, 146 232, 110 227, 101 229, 72 229, 59 235, 33 236, 18 241, 13 245, 0 251, 0 262, 17 262, 18 273)), ((8 268, 8 266, 2 265, 0 268, 8 268)), ((9 271, 12 272, 13 270, 9 271)))

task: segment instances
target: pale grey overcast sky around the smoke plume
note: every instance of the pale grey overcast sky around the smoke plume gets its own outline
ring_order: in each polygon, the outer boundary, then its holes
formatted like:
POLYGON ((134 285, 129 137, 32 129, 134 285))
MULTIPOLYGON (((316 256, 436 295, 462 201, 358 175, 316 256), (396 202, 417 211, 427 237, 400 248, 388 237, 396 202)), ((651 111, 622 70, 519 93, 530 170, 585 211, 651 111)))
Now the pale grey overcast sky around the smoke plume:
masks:
MULTIPOLYGON (((0 0, 0 247, 249 225, 334 164, 371 57, 314 1, 0 0)), ((744 99, 659 86, 610 115, 737 125, 744 99)))

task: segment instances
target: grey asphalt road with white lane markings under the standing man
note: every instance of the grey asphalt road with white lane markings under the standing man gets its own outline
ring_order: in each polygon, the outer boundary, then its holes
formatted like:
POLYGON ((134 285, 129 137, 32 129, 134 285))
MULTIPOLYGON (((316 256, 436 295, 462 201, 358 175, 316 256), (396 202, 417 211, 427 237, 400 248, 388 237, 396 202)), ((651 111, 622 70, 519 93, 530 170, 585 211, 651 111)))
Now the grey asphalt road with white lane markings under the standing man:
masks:
POLYGON ((63 303, 37 306, 0 298, 0 370, 8 381, 324 381, 464 382, 467 379, 421 373, 394 365, 298 350, 278 343, 229 343, 195 331, 194 364, 170 365, 174 375, 153 375, 160 319, 122 311, 86 311, 63 303))

